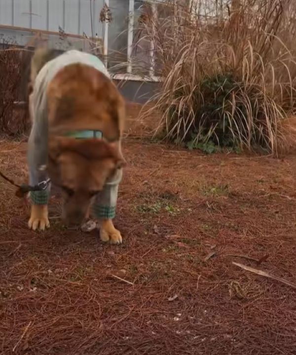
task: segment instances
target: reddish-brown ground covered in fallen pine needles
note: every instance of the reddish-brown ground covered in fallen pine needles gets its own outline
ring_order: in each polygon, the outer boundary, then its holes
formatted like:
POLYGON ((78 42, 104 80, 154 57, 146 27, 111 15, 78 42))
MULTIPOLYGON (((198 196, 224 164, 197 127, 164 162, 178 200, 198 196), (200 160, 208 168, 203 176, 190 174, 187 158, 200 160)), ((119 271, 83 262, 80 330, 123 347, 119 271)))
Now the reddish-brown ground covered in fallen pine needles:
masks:
MULTIPOLYGON (((233 264, 296 284, 296 155, 203 155, 135 122, 122 246, 63 228, 54 192, 51 228, 29 231, 0 180, 0 354, 296 354, 294 285, 233 264)), ((24 182, 25 153, 1 142, 1 171, 24 182)))

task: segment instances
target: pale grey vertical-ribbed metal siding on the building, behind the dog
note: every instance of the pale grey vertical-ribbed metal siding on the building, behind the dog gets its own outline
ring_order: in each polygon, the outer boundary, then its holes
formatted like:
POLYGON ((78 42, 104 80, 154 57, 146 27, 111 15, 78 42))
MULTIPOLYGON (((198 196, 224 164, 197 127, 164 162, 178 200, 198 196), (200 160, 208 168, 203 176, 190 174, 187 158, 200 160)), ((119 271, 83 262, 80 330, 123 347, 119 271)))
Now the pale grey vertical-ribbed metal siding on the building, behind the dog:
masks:
POLYGON ((102 36, 103 6, 104 0, 0 0, 0 25, 102 36))

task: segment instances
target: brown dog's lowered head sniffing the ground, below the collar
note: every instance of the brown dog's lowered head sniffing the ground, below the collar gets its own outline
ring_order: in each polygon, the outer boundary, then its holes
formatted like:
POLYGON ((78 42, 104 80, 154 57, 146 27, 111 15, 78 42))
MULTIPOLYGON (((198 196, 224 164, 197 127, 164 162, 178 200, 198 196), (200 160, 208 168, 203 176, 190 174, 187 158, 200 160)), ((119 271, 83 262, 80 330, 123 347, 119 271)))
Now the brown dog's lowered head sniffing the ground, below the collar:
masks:
POLYGON ((48 148, 49 176, 64 195, 63 219, 80 224, 106 180, 124 166, 119 146, 98 139, 53 137, 48 148))

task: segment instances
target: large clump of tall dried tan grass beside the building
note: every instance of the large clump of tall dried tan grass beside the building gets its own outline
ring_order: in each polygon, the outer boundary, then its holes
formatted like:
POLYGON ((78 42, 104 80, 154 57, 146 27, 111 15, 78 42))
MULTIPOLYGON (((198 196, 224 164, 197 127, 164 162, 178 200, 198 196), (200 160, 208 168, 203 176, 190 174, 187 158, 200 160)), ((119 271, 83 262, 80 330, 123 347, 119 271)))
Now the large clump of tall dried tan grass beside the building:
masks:
POLYGON ((149 16, 163 78, 151 99, 159 128, 191 147, 211 141, 277 154, 282 122, 296 111, 296 5, 225 2, 167 0, 165 16, 149 16))

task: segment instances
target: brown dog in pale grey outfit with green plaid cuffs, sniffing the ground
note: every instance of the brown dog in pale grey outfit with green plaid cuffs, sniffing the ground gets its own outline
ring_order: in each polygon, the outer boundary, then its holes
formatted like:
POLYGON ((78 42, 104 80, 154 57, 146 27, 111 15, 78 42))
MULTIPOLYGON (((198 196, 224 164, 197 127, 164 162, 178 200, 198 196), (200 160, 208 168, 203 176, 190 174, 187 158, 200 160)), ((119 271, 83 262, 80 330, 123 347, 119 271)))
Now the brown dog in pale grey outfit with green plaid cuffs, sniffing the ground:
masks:
POLYGON ((67 225, 83 223, 92 207, 101 240, 122 243, 112 218, 125 165, 125 101, 104 64, 77 50, 60 54, 37 49, 31 61, 29 113, 29 182, 46 187, 30 192, 29 228, 49 227, 50 179, 62 189, 67 225))

